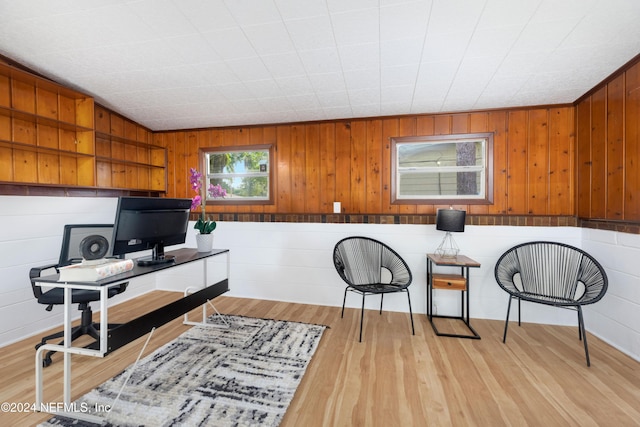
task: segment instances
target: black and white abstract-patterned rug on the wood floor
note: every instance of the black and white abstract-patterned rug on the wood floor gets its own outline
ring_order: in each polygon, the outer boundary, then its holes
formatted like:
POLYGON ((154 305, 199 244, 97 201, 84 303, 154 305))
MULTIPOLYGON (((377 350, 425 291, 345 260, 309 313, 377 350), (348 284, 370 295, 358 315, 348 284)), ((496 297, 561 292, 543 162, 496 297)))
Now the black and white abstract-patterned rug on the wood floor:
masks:
POLYGON ((58 415, 40 426, 279 425, 326 327, 224 317, 229 328, 195 326, 69 408, 102 424, 58 415))

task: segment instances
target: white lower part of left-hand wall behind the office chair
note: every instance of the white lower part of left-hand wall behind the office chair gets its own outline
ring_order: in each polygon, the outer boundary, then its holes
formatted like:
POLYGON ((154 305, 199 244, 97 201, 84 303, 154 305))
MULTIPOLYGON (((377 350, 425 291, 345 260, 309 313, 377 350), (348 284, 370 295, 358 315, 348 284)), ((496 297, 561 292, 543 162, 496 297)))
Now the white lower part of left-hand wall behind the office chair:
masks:
MULTIPOLYGON (((48 312, 35 300, 29 270, 58 261, 65 224, 113 223, 116 205, 116 198, 0 196, 0 346, 62 325, 61 307, 48 312)), ((131 285, 109 304, 155 289, 151 277, 131 285)))

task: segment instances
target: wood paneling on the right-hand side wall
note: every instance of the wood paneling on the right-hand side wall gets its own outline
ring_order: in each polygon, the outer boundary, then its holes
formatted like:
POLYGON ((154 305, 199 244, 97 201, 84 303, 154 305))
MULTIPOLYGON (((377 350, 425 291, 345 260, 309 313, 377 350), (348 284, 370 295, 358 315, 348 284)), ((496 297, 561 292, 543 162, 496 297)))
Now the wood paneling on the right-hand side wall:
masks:
POLYGON ((640 64, 577 103, 577 215, 640 221, 640 64))

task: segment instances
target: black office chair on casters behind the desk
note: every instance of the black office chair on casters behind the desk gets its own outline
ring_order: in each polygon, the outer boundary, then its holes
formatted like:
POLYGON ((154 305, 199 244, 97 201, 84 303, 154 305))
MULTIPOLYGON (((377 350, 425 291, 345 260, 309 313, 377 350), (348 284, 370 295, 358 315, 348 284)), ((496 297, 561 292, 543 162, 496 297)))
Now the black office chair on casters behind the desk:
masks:
MULTIPOLYGON (((31 287, 33 289, 33 295, 36 297, 40 304, 47 306, 46 310, 51 311, 54 305, 64 304, 64 289, 51 288, 50 290, 43 290, 36 279, 42 275, 46 270, 58 269, 60 267, 81 262, 82 252, 81 243, 83 240, 90 236, 102 236, 106 239, 107 244, 110 246, 113 233, 113 224, 68 224, 64 226, 64 234, 62 237, 62 248, 60 250, 60 259, 57 264, 45 265, 42 267, 34 267, 29 272, 29 279, 31 280, 31 287)), ((92 239, 95 240, 95 239, 92 239)), ((101 239, 99 239, 101 240, 101 239)), ((86 241, 85 241, 86 242, 86 241)), ((104 242, 104 240, 101 240, 104 242)), ((98 249, 101 250, 101 249, 98 249)), ((108 254, 109 252, 107 252, 108 254)), ((108 297, 111 298, 117 294, 125 291, 128 283, 123 283, 120 286, 109 288, 108 297)), ((73 289, 71 291, 71 301, 74 304, 78 304, 78 309, 82 312, 82 318, 79 326, 76 326, 71 331, 71 341, 83 335, 89 335, 96 341, 100 338, 100 326, 97 323, 93 323, 93 312, 89 305, 92 301, 100 301, 100 292, 89 289, 73 289)), ((117 326, 116 324, 109 324, 108 327, 112 328, 117 326)), ((64 330, 56 332, 55 334, 47 335, 42 338, 40 343, 36 345, 36 350, 40 346, 45 345, 47 341, 64 337, 64 330)), ((60 345, 64 344, 64 341, 60 342, 60 345)), ((49 366, 52 363, 51 356, 55 351, 49 351, 43 359, 43 365, 49 366)))

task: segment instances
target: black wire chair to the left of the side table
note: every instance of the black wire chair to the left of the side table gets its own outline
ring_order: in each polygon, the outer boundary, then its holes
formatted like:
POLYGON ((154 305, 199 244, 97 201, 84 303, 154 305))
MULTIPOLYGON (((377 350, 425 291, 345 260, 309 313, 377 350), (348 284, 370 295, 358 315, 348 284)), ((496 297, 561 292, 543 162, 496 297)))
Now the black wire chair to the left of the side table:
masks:
POLYGON ((406 292, 409 301, 411 332, 415 335, 413 313, 411 311, 411 270, 396 251, 382 242, 369 237, 353 236, 340 240, 333 249, 333 264, 336 271, 347 283, 342 301, 342 315, 347 301, 347 292, 362 295, 360 312, 360 342, 364 322, 364 301, 367 295, 380 294, 380 314, 384 294, 406 292))

